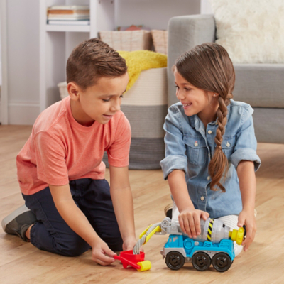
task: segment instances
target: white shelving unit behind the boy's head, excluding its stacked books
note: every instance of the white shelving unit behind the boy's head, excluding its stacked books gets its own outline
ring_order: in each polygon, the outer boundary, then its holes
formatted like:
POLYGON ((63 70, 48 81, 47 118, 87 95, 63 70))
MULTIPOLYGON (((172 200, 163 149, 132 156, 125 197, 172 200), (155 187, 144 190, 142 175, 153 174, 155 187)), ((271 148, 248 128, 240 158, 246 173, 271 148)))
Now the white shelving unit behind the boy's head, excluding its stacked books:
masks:
POLYGON ((57 102, 57 84, 65 81, 65 65, 72 48, 114 29, 113 0, 40 0, 40 111, 57 102), (89 26, 48 25, 47 8, 53 5, 89 5, 89 26))

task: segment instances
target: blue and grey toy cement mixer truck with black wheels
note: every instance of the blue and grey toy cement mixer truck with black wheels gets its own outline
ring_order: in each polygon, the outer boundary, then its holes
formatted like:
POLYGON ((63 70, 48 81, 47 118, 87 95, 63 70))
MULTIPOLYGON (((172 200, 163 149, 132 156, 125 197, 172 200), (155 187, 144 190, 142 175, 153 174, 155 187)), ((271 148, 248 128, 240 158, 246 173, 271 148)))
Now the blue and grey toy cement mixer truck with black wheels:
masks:
POLYGON ((200 219, 201 234, 192 239, 180 229, 178 221, 166 217, 162 222, 148 226, 133 248, 133 254, 140 253, 140 247, 153 234, 169 234, 168 242, 160 253, 168 268, 178 270, 185 262, 192 262, 197 271, 205 271, 212 266, 219 272, 227 271, 235 258, 234 241, 241 244, 244 228, 232 230, 218 219, 200 219))

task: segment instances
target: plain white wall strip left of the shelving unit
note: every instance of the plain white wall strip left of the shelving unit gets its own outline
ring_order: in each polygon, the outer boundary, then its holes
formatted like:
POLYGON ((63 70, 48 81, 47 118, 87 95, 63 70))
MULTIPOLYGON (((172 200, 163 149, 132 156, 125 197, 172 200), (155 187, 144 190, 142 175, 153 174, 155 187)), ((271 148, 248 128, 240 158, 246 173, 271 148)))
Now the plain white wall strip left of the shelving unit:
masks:
POLYGON ((39 2, 6 7, 9 124, 31 124, 39 114, 39 2))

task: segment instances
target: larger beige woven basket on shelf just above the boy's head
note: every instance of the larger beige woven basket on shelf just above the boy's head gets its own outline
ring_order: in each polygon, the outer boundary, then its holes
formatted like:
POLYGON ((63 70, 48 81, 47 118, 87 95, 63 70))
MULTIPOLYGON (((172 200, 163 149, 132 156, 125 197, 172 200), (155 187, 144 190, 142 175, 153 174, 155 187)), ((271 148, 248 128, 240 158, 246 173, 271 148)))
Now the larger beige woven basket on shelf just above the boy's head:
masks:
POLYGON ((115 50, 151 50, 151 31, 101 31, 99 38, 115 50))

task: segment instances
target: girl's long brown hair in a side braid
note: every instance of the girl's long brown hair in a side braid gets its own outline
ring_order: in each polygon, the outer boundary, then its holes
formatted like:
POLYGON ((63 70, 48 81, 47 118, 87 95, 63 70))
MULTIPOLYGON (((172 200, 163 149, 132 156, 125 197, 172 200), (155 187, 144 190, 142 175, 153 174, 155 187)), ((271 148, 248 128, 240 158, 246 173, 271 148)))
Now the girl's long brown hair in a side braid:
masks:
POLYGON ((218 129, 215 136, 216 148, 209 163, 209 173, 212 178, 211 190, 226 191, 220 183, 222 175, 226 177, 228 160, 222 151, 222 140, 226 126, 226 106, 233 97, 235 72, 226 50, 217 43, 204 43, 187 51, 175 62, 176 70, 193 86, 205 92, 219 94, 219 108, 217 110, 218 129))

